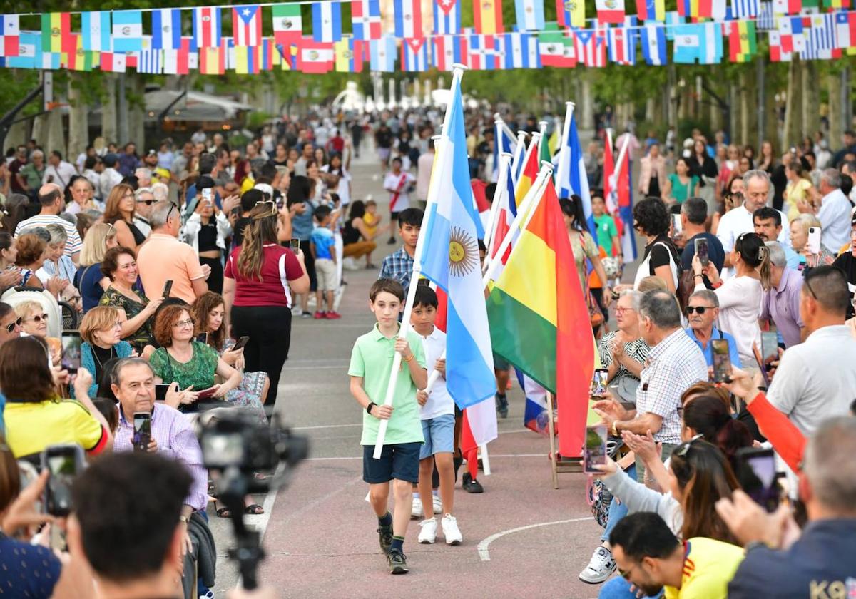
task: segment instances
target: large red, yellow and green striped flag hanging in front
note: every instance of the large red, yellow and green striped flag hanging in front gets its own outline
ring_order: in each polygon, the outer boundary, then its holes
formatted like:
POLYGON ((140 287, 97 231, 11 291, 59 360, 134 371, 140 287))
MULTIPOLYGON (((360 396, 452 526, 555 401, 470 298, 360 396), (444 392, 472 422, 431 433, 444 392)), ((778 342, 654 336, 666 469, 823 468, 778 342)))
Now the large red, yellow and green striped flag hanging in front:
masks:
POLYGON ((552 181, 490 291, 487 313, 494 353, 556 394, 559 452, 579 456, 594 338, 552 181))

